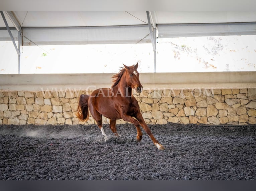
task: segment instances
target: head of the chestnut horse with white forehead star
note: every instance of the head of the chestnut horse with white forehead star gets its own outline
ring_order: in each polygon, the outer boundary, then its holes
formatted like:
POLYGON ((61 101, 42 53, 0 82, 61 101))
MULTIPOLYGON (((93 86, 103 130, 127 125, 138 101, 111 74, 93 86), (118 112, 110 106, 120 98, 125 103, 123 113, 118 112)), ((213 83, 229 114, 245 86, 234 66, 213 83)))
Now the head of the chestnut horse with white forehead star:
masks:
POLYGON ((136 90, 137 93, 142 92, 142 86, 140 84, 139 80, 139 73, 137 71, 138 63, 135 66, 125 66, 124 68, 126 70, 126 82, 128 87, 131 87, 136 90))

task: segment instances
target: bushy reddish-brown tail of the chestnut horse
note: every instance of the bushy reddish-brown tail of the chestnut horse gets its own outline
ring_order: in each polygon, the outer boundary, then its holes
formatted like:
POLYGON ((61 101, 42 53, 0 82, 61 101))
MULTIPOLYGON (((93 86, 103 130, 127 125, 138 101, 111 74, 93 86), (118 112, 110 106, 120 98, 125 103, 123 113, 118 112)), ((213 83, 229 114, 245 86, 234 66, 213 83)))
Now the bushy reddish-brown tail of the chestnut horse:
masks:
POLYGON ((85 94, 80 95, 79 98, 76 115, 82 121, 87 121, 89 118, 88 99, 89 95, 85 94))

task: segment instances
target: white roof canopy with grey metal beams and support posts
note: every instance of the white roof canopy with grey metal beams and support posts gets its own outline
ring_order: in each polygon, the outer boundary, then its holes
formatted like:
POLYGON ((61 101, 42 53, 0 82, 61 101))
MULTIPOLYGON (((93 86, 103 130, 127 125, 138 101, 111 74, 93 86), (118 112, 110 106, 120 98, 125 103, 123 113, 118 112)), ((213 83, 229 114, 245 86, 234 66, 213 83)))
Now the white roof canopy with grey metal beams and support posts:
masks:
POLYGON ((152 43, 154 72, 157 38, 256 35, 256 11, 0 12, 0 40, 12 40, 18 55, 34 44, 152 43))

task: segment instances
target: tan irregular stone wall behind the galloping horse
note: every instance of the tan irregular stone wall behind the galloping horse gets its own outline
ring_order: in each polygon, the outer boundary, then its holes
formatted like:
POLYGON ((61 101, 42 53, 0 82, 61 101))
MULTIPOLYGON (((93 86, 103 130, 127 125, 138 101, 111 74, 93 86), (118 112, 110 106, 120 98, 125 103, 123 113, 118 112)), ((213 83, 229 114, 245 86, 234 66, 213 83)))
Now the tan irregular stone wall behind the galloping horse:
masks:
MULTIPOLYGON (((90 92, 0 91, 0 124, 95 124, 75 114, 81 94, 90 92)), ((147 124, 256 124, 255 88, 152 89, 134 96, 147 124)))

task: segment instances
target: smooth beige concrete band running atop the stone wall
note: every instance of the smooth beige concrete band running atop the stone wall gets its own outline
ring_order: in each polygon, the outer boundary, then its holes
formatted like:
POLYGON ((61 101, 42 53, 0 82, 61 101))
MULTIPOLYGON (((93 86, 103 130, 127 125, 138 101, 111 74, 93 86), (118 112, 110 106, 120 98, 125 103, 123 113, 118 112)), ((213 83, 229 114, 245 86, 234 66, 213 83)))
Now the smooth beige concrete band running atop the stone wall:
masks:
MULTIPOLYGON (((0 90, 59 91, 111 87, 114 74, 1 74, 0 90)), ((140 73, 146 89, 253 88, 256 72, 140 73)))

